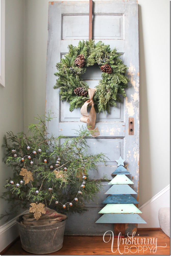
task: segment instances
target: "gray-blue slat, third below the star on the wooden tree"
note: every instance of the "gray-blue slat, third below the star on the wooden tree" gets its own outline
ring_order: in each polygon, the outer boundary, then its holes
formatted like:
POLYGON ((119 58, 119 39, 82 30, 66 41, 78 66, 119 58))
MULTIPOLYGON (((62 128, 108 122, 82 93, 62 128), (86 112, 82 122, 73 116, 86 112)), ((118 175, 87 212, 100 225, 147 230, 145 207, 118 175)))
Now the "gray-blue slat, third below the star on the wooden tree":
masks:
POLYGON ((106 193, 104 194, 137 194, 129 185, 113 185, 106 193))

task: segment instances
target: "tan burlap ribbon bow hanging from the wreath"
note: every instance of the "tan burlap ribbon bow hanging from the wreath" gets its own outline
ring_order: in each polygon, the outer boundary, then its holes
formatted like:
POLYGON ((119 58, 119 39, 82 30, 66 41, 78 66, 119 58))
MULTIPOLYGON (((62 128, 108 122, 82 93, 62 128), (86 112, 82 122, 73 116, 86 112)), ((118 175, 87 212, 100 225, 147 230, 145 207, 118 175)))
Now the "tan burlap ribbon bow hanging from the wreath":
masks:
POLYGON ((92 100, 94 92, 95 92, 95 89, 90 89, 90 88, 88 89, 88 94, 89 94, 90 99, 87 100, 84 103, 84 105, 81 107, 80 112, 82 114, 82 117, 80 118, 80 122, 87 123, 87 128, 89 131, 91 131, 91 135, 93 137, 97 137, 98 135, 100 135, 100 132, 97 127, 94 129, 95 119, 96 119, 94 102, 92 100), (89 114, 87 112, 88 105, 91 106, 91 110, 90 110, 89 114))

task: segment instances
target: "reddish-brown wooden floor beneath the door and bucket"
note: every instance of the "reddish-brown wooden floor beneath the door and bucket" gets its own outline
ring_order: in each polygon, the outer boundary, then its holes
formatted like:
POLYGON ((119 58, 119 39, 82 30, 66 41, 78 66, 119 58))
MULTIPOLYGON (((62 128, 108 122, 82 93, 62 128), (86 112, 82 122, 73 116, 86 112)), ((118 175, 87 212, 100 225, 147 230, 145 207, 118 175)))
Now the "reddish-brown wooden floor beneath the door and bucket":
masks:
MULTIPOLYGON (((170 238, 161 230, 139 229, 131 238, 131 244, 126 244, 125 240, 122 244, 121 238, 119 246, 117 238, 114 238, 113 246, 112 237, 110 241, 110 236, 105 236, 104 239, 106 242, 103 241, 102 236, 64 236, 62 249, 46 255, 170 255, 170 238), (142 244, 141 239, 143 239, 142 244)), ((36 254, 24 251, 18 239, 1 255, 36 254)))

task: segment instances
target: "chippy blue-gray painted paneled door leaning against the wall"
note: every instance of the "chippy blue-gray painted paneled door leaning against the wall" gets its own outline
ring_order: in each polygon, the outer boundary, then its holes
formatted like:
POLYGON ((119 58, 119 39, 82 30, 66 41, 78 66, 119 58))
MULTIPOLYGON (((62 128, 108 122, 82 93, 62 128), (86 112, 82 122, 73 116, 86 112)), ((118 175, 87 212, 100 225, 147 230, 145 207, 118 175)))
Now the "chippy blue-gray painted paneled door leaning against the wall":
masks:
MULTIPOLYGON (((67 46, 78 45, 79 40, 88 39, 89 35, 89 2, 49 2, 48 17, 48 48, 47 48, 47 86, 46 112, 51 110, 53 121, 50 122, 49 132, 65 136, 74 136, 74 130, 86 124, 80 122, 80 109, 69 112, 69 104, 59 100, 59 91, 54 90, 56 83, 56 63, 67 53, 67 46)), ((117 48, 121 58, 127 65, 127 76, 130 79, 126 89, 127 97, 123 103, 110 109, 110 114, 96 115, 96 124, 100 136, 88 139, 91 152, 103 152, 109 157, 106 166, 99 163, 99 172, 91 176, 100 178, 116 169, 115 159, 121 156, 126 159, 125 165, 134 182, 131 187, 138 192, 139 172, 139 61, 138 61, 138 3, 137 1, 94 1, 92 39, 109 44, 111 49, 117 48), (134 119, 134 133, 130 133, 129 118, 134 119)), ((101 79, 98 67, 87 68, 84 79, 90 88, 94 88, 101 79)), ((101 202, 109 185, 104 187, 97 198, 97 203, 89 202, 88 211, 82 215, 73 214, 66 225, 66 234, 103 235, 113 230, 113 224, 95 223, 100 218, 98 212, 104 207, 101 202)), ((134 195, 136 198, 136 195, 134 195)), ((136 230, 135 224, 129 224, 127 231, 136 230)))

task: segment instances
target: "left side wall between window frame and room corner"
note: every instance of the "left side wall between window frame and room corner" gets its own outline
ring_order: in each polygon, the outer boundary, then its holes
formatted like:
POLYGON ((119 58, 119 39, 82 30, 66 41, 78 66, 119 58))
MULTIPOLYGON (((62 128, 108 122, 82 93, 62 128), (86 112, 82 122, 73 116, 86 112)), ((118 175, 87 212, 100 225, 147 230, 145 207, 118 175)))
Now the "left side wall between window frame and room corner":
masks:
MULTIPOLYGON (((3 137, 6 131, 17 133, 24 130, 24 2, 5 1, 5 88, 0 86, 0 194, 6 178, 12 176, 2 158, 3 137)), ((7 202, 0 199, 0 214, 8 209, 7 202)), ((14 217, 14 216, 13 216, 14 217)), ((2 219, 0 226, 4 223, 2 219)))

